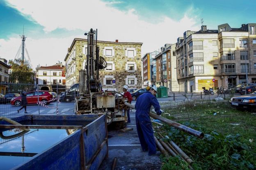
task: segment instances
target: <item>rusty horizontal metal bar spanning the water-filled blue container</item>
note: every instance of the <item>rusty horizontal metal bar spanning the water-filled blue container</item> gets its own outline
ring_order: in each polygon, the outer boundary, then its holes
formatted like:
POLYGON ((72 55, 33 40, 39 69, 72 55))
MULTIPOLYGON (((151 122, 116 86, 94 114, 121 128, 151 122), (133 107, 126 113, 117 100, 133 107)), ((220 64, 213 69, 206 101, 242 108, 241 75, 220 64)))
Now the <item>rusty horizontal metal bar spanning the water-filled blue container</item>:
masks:
POLYGON ((6 129, 82 129, 83 126, 64 126, 64 125, 0 125, 6 129))

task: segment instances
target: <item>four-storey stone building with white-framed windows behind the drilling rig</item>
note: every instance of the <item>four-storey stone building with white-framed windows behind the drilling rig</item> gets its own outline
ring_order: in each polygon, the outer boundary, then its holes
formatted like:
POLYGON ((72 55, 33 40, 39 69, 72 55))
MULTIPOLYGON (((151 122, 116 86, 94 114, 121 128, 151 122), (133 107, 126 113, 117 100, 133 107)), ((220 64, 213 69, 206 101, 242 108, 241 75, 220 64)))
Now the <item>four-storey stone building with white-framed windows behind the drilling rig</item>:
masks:
MULTIPOLYGON (((122 92, 123 85, 141 88, 141 46, 142 43, 97 41, 99 55, 107 61, 107 68, 100 71, 103 90, 122 92), (113 83, 115 80, 115 84, 113 83)), ((68 49, 66 62, 66 85, 72 86, 79 81, 79 71, 85 69, 87 39, 75 38, 68 49)))

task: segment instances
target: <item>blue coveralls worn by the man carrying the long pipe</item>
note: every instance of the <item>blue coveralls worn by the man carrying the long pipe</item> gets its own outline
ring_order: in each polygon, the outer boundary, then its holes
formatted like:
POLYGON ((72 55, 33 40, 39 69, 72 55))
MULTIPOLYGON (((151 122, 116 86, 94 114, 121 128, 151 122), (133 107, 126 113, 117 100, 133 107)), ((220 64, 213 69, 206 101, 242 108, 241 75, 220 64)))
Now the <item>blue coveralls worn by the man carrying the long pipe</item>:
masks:
POLYGON ((160 105, 158 100, 150 91, 140 95, 135 104, 135 120, 140 145, 143 151, 149 150, 149 155, 156 153, 155 139, 152 129, 149 111, 151 105, 155 108, 155 112, 160 115, 160 105))

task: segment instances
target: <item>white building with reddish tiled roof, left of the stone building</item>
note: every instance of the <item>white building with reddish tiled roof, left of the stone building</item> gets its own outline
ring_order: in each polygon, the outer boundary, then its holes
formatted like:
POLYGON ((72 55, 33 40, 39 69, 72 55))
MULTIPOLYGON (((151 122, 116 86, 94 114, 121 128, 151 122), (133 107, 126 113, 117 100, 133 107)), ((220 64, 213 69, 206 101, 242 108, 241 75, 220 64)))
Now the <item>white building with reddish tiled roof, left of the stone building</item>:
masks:
POLYGON ((65 66, 57 63, 53 66, 38 66, 36 68, 36 84, 39 89, 58 93, 66 90, 65 66))

